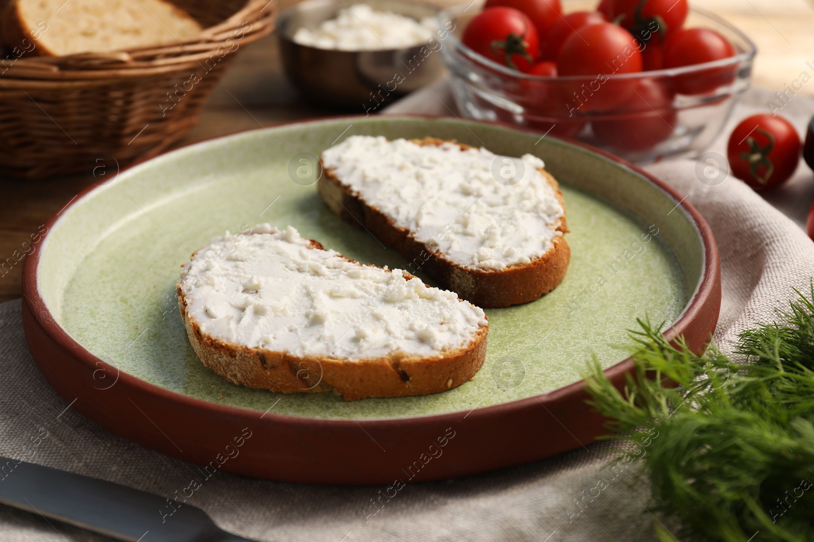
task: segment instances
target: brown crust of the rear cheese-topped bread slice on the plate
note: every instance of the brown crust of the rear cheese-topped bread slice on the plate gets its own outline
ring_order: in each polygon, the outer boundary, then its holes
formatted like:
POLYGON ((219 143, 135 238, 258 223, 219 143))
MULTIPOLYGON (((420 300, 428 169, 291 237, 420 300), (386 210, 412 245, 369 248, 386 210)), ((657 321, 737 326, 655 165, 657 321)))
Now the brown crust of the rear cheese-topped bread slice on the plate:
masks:
MULTIPOLYGON (((413 140, 418 145, 441 145, 444 140, 425 137, 413 140)), ((470 145, 449 141, 462 150, 470 145)), ((562 219, 556 231, 568 232, 565 218, 565 201, 557 180, 548 171, 539 170, 548 181, 558 202, 562 206, 562 219)), ((409 262, 427 271, 444 288, 457 293, 462 299, 471 301, 483 308, 499 308, 534 301, 549 293, 562 282, 571 261, 571 247, 562 235, 554 237, 551 248, 539 258, 529 263, 513 265, 505 269, 488 271, 462 267, 451 262, 421 241, 417 241, 407 228, 399 228, 393 220, 379 209, 368 205, 355 191, 342 184, 335 172, 323 165, 323 175, 317 182, 317 192, 322 201, 342 219, 355 223, 372 233, 385 245, 398 250, 409 262)))

